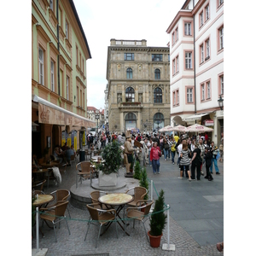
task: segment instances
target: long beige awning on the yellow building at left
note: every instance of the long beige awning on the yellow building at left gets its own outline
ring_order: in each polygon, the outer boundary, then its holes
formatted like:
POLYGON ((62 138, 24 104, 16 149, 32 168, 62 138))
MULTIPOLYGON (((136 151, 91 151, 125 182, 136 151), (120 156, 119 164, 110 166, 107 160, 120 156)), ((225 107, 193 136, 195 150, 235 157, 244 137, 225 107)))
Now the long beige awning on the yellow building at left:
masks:
POLYGON ((38 122, 50 125, 72 125, 79 127, 95 127, 96 121, 86 119, 67 109, 61 108, 43 98, 32 95, 32 101, 38 102, 38 122))

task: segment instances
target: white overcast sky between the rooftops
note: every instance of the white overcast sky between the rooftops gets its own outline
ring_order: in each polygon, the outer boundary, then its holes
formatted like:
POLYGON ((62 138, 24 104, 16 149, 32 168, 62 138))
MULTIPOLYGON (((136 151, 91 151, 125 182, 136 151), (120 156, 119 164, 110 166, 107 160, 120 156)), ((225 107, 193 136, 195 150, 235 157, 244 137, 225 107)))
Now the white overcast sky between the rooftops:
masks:
POLYGON ((166 29, 185 0, 73 0, 89 44, 87 106, 104 108, 110 39, 147 40, 148 46, 170 41, 166 29))

